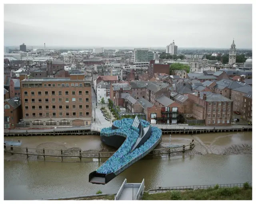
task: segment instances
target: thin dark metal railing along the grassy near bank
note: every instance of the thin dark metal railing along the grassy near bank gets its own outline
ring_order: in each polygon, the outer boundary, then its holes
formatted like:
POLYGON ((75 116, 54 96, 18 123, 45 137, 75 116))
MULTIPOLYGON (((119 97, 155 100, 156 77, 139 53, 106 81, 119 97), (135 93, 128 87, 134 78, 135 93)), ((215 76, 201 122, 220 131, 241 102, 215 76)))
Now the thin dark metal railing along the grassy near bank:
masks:
MULTIPOLYGON (((250 187, 252 187, 252 183, 248 183, 250 187)), ((198 189, 209 189, 218 185, 218 188, 234 188, 244 187, 243 183, 235 183, 235 184, 214 184, 214 185, 197 185, 197 186, 175 186, 175 187, 158 187, 158 188, 149 188, 148 190, 145 190, 149 193, 163 193, 170 190, 198 190, 198 189)))

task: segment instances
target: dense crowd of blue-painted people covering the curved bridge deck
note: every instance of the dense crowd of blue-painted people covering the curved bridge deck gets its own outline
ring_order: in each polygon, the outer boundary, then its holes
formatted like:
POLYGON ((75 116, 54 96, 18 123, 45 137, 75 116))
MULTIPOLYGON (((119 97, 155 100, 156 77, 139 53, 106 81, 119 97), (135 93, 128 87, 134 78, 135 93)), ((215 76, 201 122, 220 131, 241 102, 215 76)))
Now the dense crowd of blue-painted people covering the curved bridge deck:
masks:
MULTIPOLYGON (((139 136, 139 129, 132 127, 133 121, 134 120, 130 118, 124 118, 122 120, 116 120, 113 123, 113 125, 118 127, 119 129, 113 130, 111 127, 102 128, 101 132, 104 133, 104 135, 115 132, 123 133, 126 135, 126 140, 121 145, 121 147, 114 153, 114 155, 112 155, 112 157, 110 157, 104 164, 102 164, 97 169, 97 173, 108 174, 117 171, 118 169, 120 169, 120 167, 128 164, 132 159, 146 152, 161 137, 161 129, 152 126, 150 138, 143 145, 134 149, 134 151, 131 152, 132 146, 136 143, 139 136)), ((150 123, 145 120, 140 120, 140 122, 143 128, 146 128, 150 125, 150 123)))

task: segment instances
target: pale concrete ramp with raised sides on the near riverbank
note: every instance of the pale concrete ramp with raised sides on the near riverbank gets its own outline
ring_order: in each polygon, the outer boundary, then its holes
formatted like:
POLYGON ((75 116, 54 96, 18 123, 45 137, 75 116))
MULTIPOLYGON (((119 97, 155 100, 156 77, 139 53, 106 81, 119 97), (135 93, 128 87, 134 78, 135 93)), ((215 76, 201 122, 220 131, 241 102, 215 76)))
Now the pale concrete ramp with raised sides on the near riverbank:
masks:
POLYGON ((144 193, 144 179, 141 183, 127 183, 125 179, 116 194, 115 200, 139 200, 144 193))

